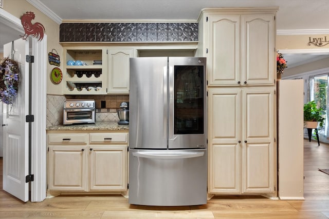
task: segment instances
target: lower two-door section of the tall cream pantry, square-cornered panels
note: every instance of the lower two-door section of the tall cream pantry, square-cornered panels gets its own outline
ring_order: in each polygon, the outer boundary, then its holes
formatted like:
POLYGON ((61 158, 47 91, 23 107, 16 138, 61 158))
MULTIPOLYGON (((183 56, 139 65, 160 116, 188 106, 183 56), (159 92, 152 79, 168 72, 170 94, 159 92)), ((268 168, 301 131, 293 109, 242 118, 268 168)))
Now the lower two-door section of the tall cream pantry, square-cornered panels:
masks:
POLYGON ((274 192, 275 90, 210 88, 208 98, 208 192, 274 192))

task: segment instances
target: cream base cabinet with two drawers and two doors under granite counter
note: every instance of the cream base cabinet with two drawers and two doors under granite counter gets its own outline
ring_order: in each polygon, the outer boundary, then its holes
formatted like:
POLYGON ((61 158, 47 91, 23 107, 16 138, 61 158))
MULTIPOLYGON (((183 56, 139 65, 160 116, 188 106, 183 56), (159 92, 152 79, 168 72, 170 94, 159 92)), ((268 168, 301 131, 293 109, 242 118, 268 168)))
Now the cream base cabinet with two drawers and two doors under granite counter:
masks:
POLYGON ((126 132, 49 133, 49 190, 125 192, 126 132))

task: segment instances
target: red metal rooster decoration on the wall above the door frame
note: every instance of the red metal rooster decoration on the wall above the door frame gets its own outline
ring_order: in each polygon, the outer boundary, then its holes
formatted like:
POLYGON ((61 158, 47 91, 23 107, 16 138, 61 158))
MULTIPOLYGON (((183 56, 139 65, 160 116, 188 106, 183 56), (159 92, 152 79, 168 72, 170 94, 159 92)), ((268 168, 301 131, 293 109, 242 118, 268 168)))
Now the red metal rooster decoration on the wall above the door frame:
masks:
POLYGON ((38 41, 41 41, 43 38, 43 34, 45 32, 45 28, 42 24, 36 22, 32 24, 32 19, 34 19, 35 15, 33 12, 28 11, 26 14, 23 14, 21 17, 21 22, 23 25, 23 28, 25 30, 25 34, 22 36, 22 39, 25 39, 29 36, 32 35, 33 37, 36 37, 38 41))

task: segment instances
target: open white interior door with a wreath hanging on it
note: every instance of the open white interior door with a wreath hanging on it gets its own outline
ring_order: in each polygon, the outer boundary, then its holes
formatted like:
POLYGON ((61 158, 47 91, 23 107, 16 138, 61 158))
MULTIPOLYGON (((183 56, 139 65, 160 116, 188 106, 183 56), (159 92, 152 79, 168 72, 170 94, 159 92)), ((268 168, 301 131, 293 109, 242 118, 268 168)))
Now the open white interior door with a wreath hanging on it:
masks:
POLYGON ((16 39, 4 46, 4 57, 12 56, 19 63, 21 83, 19 92, 12 105, 4 104, 3 109, 3 189, 20 200, 29 200, 29 184, 25 176, 29 174, 29 146, 28 115, 29 106, 29 65, 25 62, 25 55, 29 54, 29 43, 16 39))

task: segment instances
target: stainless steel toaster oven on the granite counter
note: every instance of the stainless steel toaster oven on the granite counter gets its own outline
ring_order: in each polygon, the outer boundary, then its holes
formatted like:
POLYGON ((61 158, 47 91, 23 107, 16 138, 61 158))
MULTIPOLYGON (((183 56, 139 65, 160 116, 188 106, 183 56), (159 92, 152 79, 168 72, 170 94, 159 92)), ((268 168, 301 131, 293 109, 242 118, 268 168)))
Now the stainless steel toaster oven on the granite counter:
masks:
POLYGON ((95 123, 94 99, 66 99, 63 109, 63 125, 95 123))

